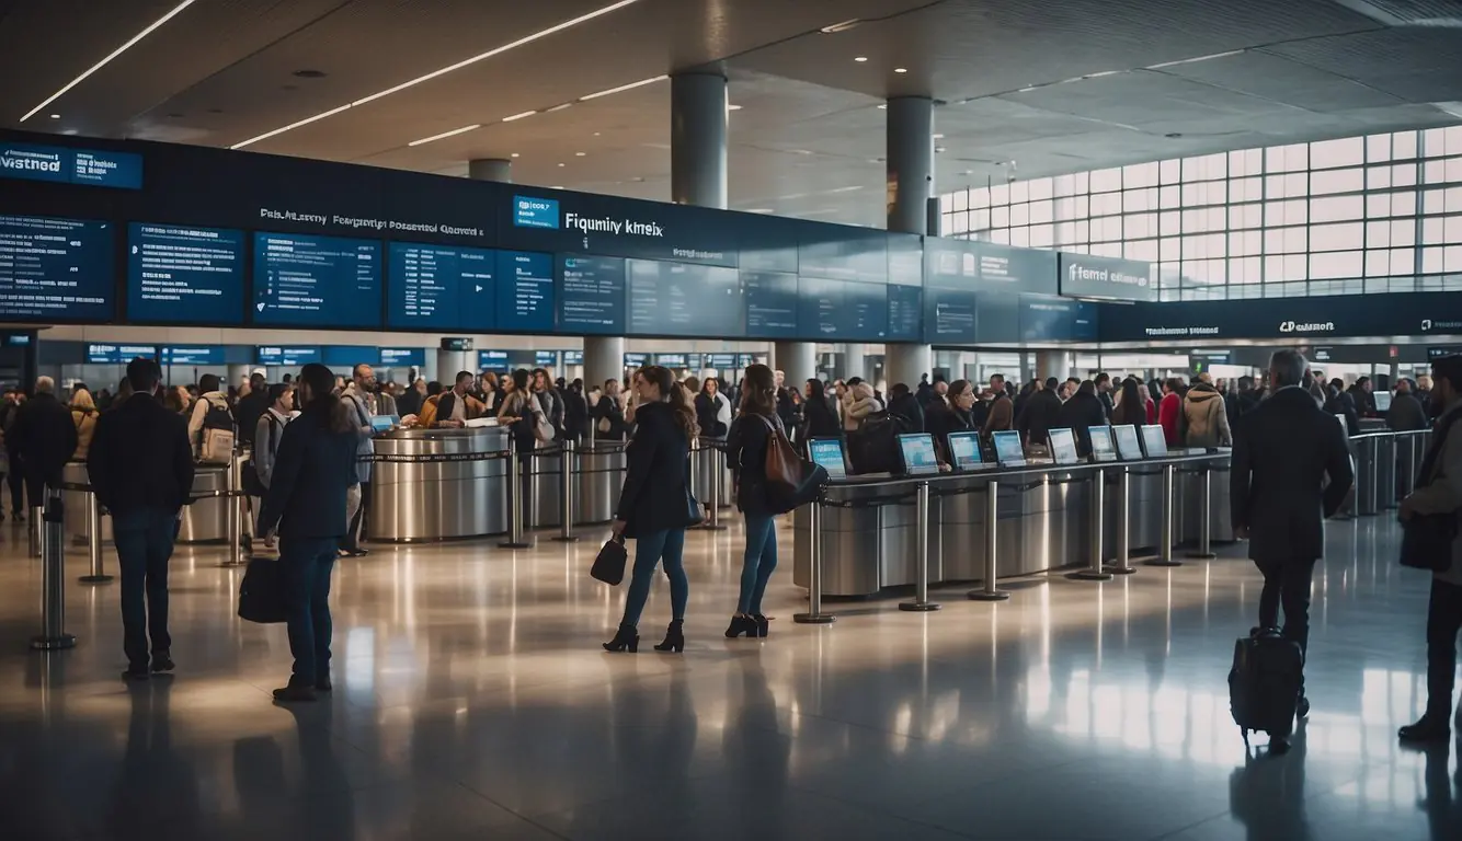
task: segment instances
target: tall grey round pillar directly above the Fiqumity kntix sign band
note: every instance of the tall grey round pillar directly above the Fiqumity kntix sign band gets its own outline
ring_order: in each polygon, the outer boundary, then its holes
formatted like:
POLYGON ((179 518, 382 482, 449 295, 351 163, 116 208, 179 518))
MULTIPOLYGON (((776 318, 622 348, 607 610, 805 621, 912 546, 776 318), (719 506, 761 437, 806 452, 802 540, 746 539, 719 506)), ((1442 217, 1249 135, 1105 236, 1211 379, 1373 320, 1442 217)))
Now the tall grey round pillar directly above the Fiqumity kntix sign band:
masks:
POLYGON ((670 197, 677 204, 727 206, 727 77, 670 79, 670 197))

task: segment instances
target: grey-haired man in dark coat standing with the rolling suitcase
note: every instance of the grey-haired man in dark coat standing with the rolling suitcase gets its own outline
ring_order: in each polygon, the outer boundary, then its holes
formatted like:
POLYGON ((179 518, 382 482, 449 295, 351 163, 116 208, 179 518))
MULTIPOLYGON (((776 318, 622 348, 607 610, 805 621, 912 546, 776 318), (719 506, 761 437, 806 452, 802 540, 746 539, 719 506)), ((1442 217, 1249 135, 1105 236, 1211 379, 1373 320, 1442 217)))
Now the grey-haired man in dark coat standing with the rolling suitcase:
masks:
MULTIPOLYGON (((1234 533, 1265 575, 1259 626, 1278 628, 1304 654, 1310 641, 1310 581, 1325 555, 1326 517, 1339 511, 1355 475, 1345 431, 1301 387, 1306 361, 1281 350, 1269 364, 1270 396, 1234 428, 1234 533)), ((1310 711, 1301 683, 1300 717, 1310 711)), ((1287 748, 1287 745, 1284 746, 1287 748)), ((1284 749, 1281 748, 1281 749, 1284 749)))

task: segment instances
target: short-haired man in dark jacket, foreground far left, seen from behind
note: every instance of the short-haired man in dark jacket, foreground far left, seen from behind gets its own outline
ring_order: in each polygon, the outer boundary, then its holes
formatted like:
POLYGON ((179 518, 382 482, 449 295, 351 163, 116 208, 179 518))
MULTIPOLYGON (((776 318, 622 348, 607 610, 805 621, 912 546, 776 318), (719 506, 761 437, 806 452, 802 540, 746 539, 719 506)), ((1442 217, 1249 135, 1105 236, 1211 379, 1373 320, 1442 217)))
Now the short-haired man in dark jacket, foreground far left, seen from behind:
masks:
POLYGON ((168 559, 178 511, 193 492, 187 420, 158 402, 162 369, 152 359, 127 364, 132 396, 96 419, 86 472, 96 502, 111 511, 121 565, 121 629, 127 680, 173 670, 168 635, 168 559), (146 604, 143 604, 146 594, 146 604))

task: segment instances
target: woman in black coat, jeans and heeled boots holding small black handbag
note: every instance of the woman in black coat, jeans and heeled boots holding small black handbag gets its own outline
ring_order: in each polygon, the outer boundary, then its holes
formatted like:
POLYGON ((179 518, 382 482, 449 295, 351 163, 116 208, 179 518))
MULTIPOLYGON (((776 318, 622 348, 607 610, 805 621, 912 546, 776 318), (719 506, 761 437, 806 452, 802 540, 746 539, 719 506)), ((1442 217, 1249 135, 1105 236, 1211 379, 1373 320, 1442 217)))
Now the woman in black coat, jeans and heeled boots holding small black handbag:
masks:
POLYGON ((696 410, 670 369, 659 365, 635 374, 635 437, 626 447, 624 488, 614 515, 616 537, 635 539, 635 571, 624 596, 624 618, 605 651, 637 651, 640 613, 655 568, 664 561, 670 578, 671 622, 656 651, 683 651, 690 581, 681 553, 686 529, 700 521, 690 494, 690 442, 699 434, 696 410))

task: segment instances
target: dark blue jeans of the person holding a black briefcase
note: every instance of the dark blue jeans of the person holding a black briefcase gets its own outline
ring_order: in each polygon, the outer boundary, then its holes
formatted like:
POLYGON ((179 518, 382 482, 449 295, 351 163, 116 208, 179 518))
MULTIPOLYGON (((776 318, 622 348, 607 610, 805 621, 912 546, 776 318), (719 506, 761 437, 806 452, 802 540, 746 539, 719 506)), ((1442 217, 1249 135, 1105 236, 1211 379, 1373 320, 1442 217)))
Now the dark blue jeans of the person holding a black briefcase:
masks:
POLYGON ((281 537, 294 676, 289 685, 314 686, 330 676, 330 571, 335 537, 281 537))

